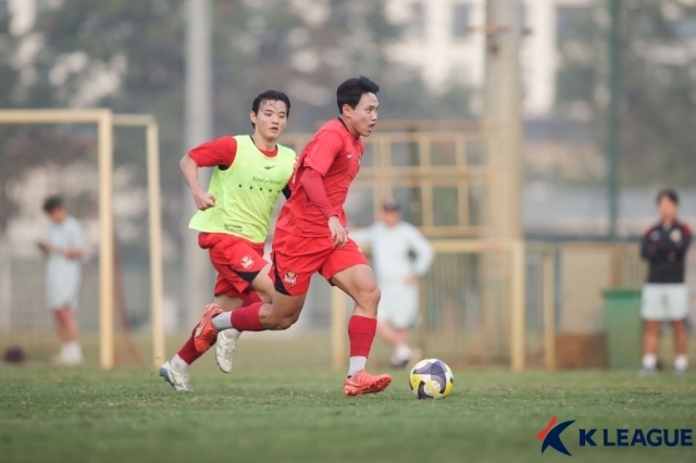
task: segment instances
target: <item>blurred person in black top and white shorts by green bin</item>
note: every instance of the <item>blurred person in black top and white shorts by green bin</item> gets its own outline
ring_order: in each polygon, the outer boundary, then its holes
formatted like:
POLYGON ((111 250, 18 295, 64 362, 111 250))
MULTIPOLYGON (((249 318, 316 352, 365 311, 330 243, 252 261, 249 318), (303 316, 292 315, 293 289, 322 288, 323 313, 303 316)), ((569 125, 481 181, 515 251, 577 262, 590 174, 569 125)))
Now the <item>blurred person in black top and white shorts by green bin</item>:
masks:
POLYGON ((674 372, 681 375, 686 372, 688 365, 688 290, 684 284, 684 261, 692 232, 686 224, 676 218, 679 197, 675 191, 660 191, 657 196, 657 209, 660 222, 645 233, 641 245, 641 254, 649 263, 641 310, 641 316, 645 321, 643 373, 655 373, 660 327, 663 322, 670 322, 676 350, 674 372))

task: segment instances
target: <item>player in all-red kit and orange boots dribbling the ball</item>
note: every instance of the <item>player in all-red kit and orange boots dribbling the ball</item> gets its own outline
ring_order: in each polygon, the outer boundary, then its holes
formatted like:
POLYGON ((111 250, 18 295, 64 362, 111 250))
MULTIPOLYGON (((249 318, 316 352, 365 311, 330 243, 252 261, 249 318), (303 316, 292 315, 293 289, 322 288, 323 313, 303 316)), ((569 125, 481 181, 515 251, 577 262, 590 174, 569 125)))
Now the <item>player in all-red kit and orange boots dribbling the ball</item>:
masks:
POLYGON ((360 170, 364 146, 377 121, 380 86, 366 77, 351 78, 336 91, 340 116, 324 124, 307 145, 291 180, 293 193, 278 217, 273 239, 272 303, 257 302, 229 313, 209 306, 197 339, 212 346, 223 329, 287 329, 304 305, 311 276, 319 272, 356 302, 348 324, 350 365, 347 396, 376 393, 389 375, 365 372, 377 326, 377 288, 372 268, 346 230, 344 203, 360 170))

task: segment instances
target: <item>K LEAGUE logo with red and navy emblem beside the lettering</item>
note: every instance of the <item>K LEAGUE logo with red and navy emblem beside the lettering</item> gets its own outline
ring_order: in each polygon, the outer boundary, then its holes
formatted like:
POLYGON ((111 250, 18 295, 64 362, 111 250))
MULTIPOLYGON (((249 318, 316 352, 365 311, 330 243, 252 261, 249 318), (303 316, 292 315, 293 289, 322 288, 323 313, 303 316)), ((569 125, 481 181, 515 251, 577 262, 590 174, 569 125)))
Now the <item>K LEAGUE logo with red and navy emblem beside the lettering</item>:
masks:
MULTIPOLYGON (((537 433, 537 439, 542 440, 542 453, 549 447, 557 452, 572 456, 561 440, 561 434, 575 420, 563 422, 559 425, 556 415, 551 417, 546 427, 537 433)), ((567 435, 570 441, 570 435, 567 435)), ((577 429, 577 445, 580 447, 693 447, 693 429, 577 429)))

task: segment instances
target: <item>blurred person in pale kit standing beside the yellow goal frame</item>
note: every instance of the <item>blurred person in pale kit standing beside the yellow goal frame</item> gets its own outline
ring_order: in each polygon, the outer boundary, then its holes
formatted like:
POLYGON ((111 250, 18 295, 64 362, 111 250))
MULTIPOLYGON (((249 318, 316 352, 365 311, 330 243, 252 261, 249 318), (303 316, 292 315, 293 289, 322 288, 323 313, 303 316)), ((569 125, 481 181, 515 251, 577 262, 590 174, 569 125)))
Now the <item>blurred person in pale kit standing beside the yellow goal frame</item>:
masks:
POLYGON ((83 351, 77 340, 75 309, 79 293, 80 259, 85 238, 79 222, 67 215, 63 201, 52 196, 44 202, 44 211, 51 221, 46 240, 38 247, 47 256, 46 301, 53 312, 61 338, 61 352, 57 363, 78 365, 83 362, 83 351))

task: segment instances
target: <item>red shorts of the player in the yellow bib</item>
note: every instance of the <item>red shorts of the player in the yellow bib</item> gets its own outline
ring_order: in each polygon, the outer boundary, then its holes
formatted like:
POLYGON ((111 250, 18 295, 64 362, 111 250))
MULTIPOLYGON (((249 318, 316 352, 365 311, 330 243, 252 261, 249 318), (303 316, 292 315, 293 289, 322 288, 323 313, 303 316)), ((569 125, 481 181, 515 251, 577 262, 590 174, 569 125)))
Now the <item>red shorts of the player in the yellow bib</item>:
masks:
POLYGON ((208 249, 210 262, 217 271, 215 296, 244 299, 251 291, 251 281, 268 262, 263 243, 248 241, 222 233, 200 233, 198 246, 208 249))

